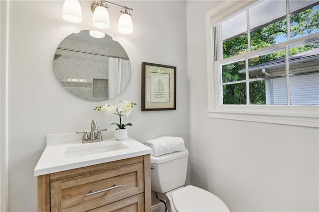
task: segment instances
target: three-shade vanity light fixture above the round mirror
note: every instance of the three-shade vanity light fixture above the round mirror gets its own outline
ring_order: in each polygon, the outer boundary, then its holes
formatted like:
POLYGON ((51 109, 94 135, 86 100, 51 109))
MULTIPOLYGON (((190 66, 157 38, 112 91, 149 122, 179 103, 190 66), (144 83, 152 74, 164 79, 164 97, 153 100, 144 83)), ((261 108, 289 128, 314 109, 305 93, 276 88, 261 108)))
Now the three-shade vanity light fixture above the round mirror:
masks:
MULTIPOLYGON (((133 33, 133 22, 131 17, 131 11, 133 11, 133 9, 107 0, 95 0, 91 4, 91 10, 93 12, 93 26, 99 29, 110 28, 110 16, 107 9, 107 3, 122 7, 120 10, 122 14, 118 22, 118 31, 123 34, 133 33)), ((77 23, 82 22, 82 11, 79 0, 65 0, 62 9, 62 16, 67 21, 77 23)))

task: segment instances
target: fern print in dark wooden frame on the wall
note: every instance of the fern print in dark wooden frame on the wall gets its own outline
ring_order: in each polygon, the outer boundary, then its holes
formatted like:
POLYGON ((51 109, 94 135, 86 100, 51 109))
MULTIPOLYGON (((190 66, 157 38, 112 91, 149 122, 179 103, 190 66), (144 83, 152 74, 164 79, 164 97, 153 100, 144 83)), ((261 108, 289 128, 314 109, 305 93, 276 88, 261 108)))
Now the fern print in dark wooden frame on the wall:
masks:
POLYGON ((176 109, 176 67, 142 63, 142 111, 176 109))

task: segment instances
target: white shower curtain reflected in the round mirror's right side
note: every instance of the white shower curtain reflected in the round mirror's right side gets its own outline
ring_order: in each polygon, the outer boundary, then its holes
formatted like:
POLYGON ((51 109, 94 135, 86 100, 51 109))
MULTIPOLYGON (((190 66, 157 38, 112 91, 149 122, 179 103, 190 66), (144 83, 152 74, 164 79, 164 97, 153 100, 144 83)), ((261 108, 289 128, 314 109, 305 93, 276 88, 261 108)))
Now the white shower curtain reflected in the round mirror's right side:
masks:
POLYGON ((130 79, 130 61, 122 58, 109 59, 109 99, 117 96, 130 79))

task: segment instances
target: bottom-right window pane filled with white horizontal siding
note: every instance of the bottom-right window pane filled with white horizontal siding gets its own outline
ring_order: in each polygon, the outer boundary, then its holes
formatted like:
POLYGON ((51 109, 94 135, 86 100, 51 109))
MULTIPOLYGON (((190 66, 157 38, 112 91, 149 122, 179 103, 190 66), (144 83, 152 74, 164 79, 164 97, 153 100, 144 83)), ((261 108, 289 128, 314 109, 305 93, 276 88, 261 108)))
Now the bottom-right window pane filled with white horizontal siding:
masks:
POLYGON ((319 73, 290 77, 291 105, 319 105, 319 73))

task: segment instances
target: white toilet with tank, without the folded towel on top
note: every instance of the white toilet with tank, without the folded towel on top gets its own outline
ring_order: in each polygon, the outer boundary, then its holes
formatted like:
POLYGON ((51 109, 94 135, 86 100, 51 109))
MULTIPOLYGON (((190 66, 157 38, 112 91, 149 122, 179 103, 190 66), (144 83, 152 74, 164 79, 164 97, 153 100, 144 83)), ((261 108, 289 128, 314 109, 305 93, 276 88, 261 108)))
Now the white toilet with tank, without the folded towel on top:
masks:
POLYGON ((164 193, 170 212, 229 212, 226 204, 214 194, 195 186, 184 186, 188 150, 155 157, 151 155, 151 186, 164 193))

